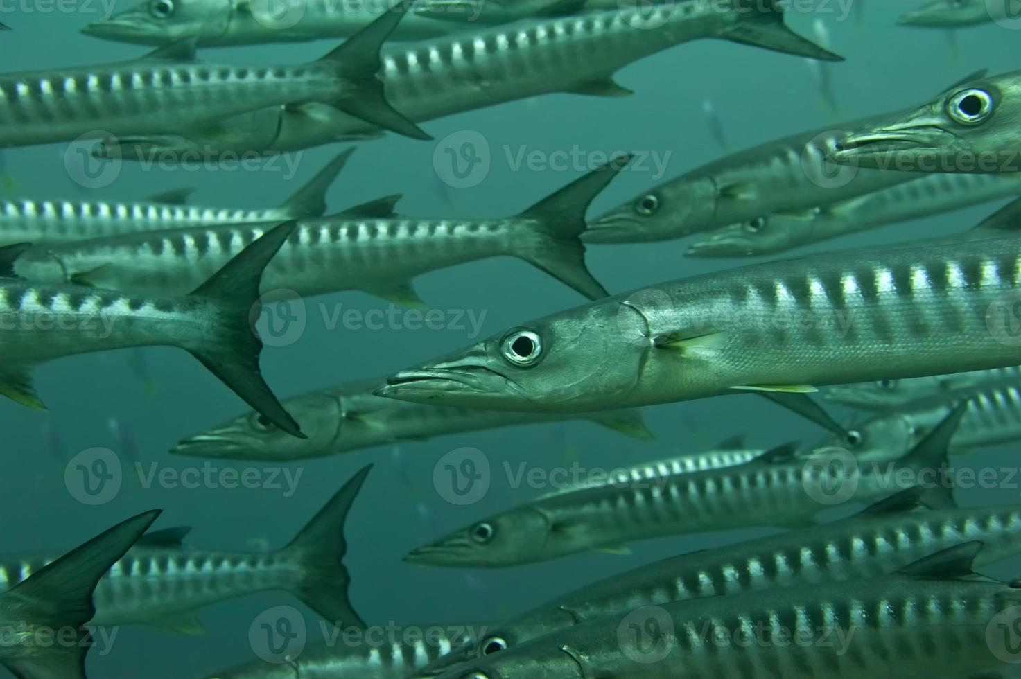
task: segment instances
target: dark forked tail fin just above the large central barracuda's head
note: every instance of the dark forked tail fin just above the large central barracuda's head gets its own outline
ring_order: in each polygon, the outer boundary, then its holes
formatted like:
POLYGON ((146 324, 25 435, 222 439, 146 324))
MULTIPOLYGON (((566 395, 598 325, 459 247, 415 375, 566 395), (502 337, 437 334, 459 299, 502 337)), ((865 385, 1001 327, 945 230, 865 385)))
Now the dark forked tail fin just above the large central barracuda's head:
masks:
POLYGON ((592 199, 630 161, 630 155, 613 158, 519 214, 535 225, 537 238, 515 254, 589 299, 605 297, 606 290, 585 266, 581 235, 587 228, 585 212, 592 199))

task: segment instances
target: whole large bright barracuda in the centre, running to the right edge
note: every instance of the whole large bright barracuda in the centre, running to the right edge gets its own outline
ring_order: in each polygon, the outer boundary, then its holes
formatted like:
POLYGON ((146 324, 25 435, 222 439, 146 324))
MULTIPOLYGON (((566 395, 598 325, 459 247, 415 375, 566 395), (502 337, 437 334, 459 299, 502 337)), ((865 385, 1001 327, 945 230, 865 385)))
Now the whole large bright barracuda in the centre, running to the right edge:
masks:
POLYGON ((755 264, 519 325, 375 393, 594 411, 1017 366, 1019 282, 1016 237, 755 264))

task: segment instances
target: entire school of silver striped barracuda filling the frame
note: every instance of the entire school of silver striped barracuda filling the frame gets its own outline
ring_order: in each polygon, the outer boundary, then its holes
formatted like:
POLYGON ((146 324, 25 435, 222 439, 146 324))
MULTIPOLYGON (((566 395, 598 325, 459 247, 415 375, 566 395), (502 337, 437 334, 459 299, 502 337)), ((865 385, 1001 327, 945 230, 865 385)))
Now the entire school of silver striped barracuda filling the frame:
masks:
MULTIPOLYGON (((817 9, 820 2, 828 0, 817 0, 817 9)), ((179 635, 207 634, 203 610, 258 595, 300 602, 320 620, 323 638, 308 634, 278 651, 256 639, 287 640, 293 620, 232 618, 232 632, 247 635, 253 652, 234 667, 202 663, 208 677, 1019 676, 1021 574, 993 574, 1021 555, 1021 502, 983 501, 963 493, 962 481, 978 475, 974 460, 987 448, 1021 442, 1021 70, 958 74, 933 98, 906 97, 894 108, 877 97, 868 116, 837 122, 847 93, 834 85, 832 66, 843 57, 825 19, 815 19, 811 36, 791 28, 794 3, 308 0, 282 17, 264 0, 146 0, 82 33, 153 51, 0 75, 0 147, 86 140, 91 158, 129 164, 199 149, 272 158, 352 141, 364 142, 361 156, 388 133, 426 144, 430 122, 506 102, 539 97, 536 112, 542 95, 626 97, 632 92, 617 71, 702 39, 741 50, 749 74, 765 50, 784 59, 770 63, 791 69, 773 78, 794 78, 799 62, 809 63, 834 116, 779 138, 763 130, 757 145, 731 150, 725 111, 699 93, 694 106, 721 155, 686 157, 685 172, 598 215, 592 203, 620 185, 636 153, 609 154, 509 215, 455 216, 450 202, 450 214, 409 216, 394 188, 329 212, 328 191, 338 176, 344 184, 351 146, 270 208, 193 205, 191 190, 164 187, 137 201, 5 192, 0 395, 45 409, 46 390, 34 379, 41 363, 177 347, 251 409, 220 424, 189 419, 172 459, 277 463, 288 492, 299 494, 302 460, 369 459, 331 482, 339 489, 321 508, 310 501, 310 514, 293 517, 303 527, 277 549, 186 546, 189 526, 150 530, 161 513, 174 520, 163 507, 62 556, 60 549, 0 556, 0 666, 18 679, 84 678, 87 658, 98 654, 90 648, 102 642, 104 654, 117 653, 123 626, 162 630, 165 659, 149 662, 169 663, 193 652, 177 649, 187 638, 179 635), (317 39, 331 41, 329 49, 305 63, 196 55, 317 39), (831 181, 846 167, 854 171, 831 181), (627 257, 626 244, 667 247, 692 235, 678 254, 762 257, 986 203, 996 204, 951 235, 815 248, 630 291, 609 292, 586 263, 588 250, 627 257), (546 285, 566 286, 576 305, 488 336, 484 314, 469 314, 474 343, 392 365, 382 376, 320 382, 286 398, 263 380, 266 347, 256 328, 263 310, 286 313, 295 300, 347 291, 426 310, 443 300, 431 299, 432 289, 420 296, 414 279, 500 256, 536 268, 546 285), (722 401, 732 415, 722 420, 719 444, 689 438, 669 456, 642 450, 664 434, 646 424, 647 407, 741 394, 722 401), (800 416, 793 421, 812 427, 814 442, 746 444, 736 407, 755 405, 800 416), (596 577, 604 571, 588 574, 588 562, 568 561, 582 566, 549 600, 529 597, 525 584, 498 618, 480 608, 451 621, 439 610, 429 624, 404 625, 433 634, 373 641, 376 628, 355 603, 392 583, 352 578, 344 564, 352 526, 369 519, 358 497, 374 483, 371 471, 400 466, 400 450, 438 437, 558 431, 573 421, 613 430, 606 438, 628 453, 621 466, 551 492, 516 489, 508 506, 466 502, 453 530, 434 527, 432 502, 419 497, 414 480, 389 489, 387 502, 417 502, 426 518, 403 557, 423 589, 433 585, 422 566, 497 578, 601 552, 617 555, 613 574, 596 577), (773 532, 726 532, 741 529, 773 532), (698 535, 716 542, 678 547, 698 535), (673 539, 672 555, 641 562, 633 549, 657 538, 673 539)), ((864 0, 834 3, 867 26, 864 0)), ((1021 28, 1014 4, 905 2, 897 30, 906 44, 933 30, 952 44, 959 30, 1015 40, 1003 30, 1021 28)), ((11 25, 0 30, 23 30, 11 25)), ((599 99, 591 101, 597 107, 599 99)), ((618 123, 639 120, 642 111, 625 115, 633 119, 618 123)), ((571 123, 540 116, 548 126, 571 123)), ((486 293, 496 304, 514 289, 512 282, 486 293)), ((323 359, 359 368, 340 349, 323 359)), ((114 388, 101 376, 96 384, 114 388)), ((108 428, 134 447, 117 417, 108 428)), ((578 454, 549 440, 548 457, 578 454)), ((470 450, 459 469, 475 473, 475 449, 457 450, 470 450)), ((455 467, 444 459, 434 485, 455 467)), ((1013 478, 1019 469, 999 472, 1013 478)), ((65 483, 80 471, 87 470, 68 463, 65 483)), ((85 521, 87 512, 78 513, 85 521)), ((389 539, 385 523, 372 529, 375 540, 389 539)), ((443 595, 471 602, 477 576, 457 582, 443 595)), ((140 667, 130 676, 148 675, 140 667)))

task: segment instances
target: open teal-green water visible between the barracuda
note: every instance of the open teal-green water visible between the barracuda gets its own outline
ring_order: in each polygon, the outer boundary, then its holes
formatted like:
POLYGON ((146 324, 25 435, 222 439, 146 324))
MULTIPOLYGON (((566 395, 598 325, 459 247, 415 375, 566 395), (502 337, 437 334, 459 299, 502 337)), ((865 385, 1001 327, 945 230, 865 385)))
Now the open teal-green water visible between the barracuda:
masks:
MULTIPOLYGON (((136 0, 127 0, 134 3, 136 0)), ((420 142, 389 135, 357 144, 329 194, 329 212, 390 193, 401 193, 398 211, 411 216, 500 216, 514 214, 590 169, 591 164, 535 171, 515 166, 521 152, 579 149, 583 158, 597 152, 637 151, 668 158, 665 174, 646 162, 629 169, 600 194, 589 213, 610 207, 667 179, 701 165, 725 151, 709 132, 703 102, 710 100, 729 142, 729 151, 824 128, 830 123, 892 111, 924 101, 980 68, 1002 72, 1018 67, 1017 32, 989 23, 954 32, 895 26, 896 17, 917 6, 904 0, 866 2, 862 20, 835 1, 816 0, 817 11, 797 11, 787 20, 801 35, 822 18, 832 49, 846 57, 828 64, 839 111, 820 96, 806 61, 723 41, 674 47, 620 71, 616 80, 634 90, 622 98, 545 95, 470 111, 423 125, 435 137, 420 142), (824 7, 825 5, 825 7, 824 7), (469 188, 455 188, 442 145, 449 135, 477 132, 488 144, 489 168, 469 188), (444 165, 444 162, 447 164, 444 165)), ((147 48, 107 43, 80 35, 100 18, 98 1, 63 5, 44 12, 45 0, 0 2, 0 20, 14 28, 0 41, 5 70, 59 68, 137 58, 147 48), (31 10, 31 11, 30 11, 31 10)), ((123 9, 121 3, 109 6, 123 9)), ((203 49, 201 58, 225 62, 288 63, 322 56, 335 45, 318 41, 203 49)), ((458 139, 454 137, 452 139, 458 139)), ((287 162, 261 169, 144 168, 125 162, 112 183, 83 186, 68 145, 0 151, 4 197, 35 199, 141 200, 173 189, 194 187, 196 205, 270 207, 282 202, 342 148, 321 147, 292 153, 287 162), (68 167, 71 166, 70 171, 68 167), (76 178, 79 181, 76 181, 76 178)), ((81 160, 79 160, 80 162, 81 160)), ((89 182, 84 182, 89 184, 89 182)), ((456 182, 454 182, 456 183, 456 182)), ((860 245, 909 241, 964 231, 991 213, 986 204, 924 221, 901 224, 797 250, 789 256, 860 245)), ((589 269, 611 292, 640 289, 671 279, 727 269, 751 260, 698 260, 683 257, 684 241, 640 245, 592 245, 589 269)), ((485 313, 480 337, 529 319, 583 303, 566 286, 523 261, 487 259, 422 276, 415 282, 430 308, 485 313)), ((281 397, 394 370, 476 341, 466 330, 330 329, 322 310, 387 308, 388 302, 358 292, 306 301, 306 323, 287 346, 262 353, 266 382, 281 397)), ((2 360, 2 356, 0 356, 2 360)), ((598 367, 593 367, 598 370, 598 367)), ((824 435, 813 425, 753 395, 649 407, 645 417, 654 441, 637 441, 588 422, 536 425, 406 441, 332 457, 288 465, 301 472, 296 492, 285 488, 145 487, 135 471, 201 467, 202 459, 176 457, 168 448, 182 437, 247 410, 227 387, 186 352, 147 348, 61 358, 38 371, 40 395, 49 406, 34 411, 0 400, 3 423, 2 550, 10 553, 61 553, 88 536, 148 508, 164 510, 155 528, 193 526, 186 543, 204 548, 254 550, 286 544, 319 507, 361 466, 375 463, 349 515, 345 565, 350 597, 371 625, 482 623, 505 618, 576 586, 676 553, 734 541, 772 529, 669 537, 635 542, 629 555, 586 552, 543 564, 498 570, 440 569, 402 563, 414 546, 468 525, 496 510, 523 502, 551 488, 512 487, 502 464, 552 469, 577 462, 585 468, 612 469, 707 449, 735 434, 752 446, 789 440, 812 442, 824 435), (488 492, 477 503, 446 501, 433 483, 434 466, 463 446, 488 457, 488 492), (90 505, 76 498, 65 480, 68 460, 94 447, 113 450, 124 481, 108 501, 90 505)), ((849 410, 828 404, 840 420, 849 410)), ((963 458, 958 458, 963 459, 963 458)), ((970 454, 969 465, 1012 464, 1016 446, 970 454)), ((279 467, 275 463, 212 460, 216 469, 279 467)), ((69 479, 70 477, 68 477, 69 479)), ((962 504, 1021 501, 1021 491, 959 491, 962 504)), ((989 575, 1021 576, 1021 561, 989 575)), ((268 608, 290 604, 305 614, 314 637, 314 614, 295 597, 271 592, 227 601, 200 612, 205 634, 187 635, 150 627, 120 629, 109 653, 88 657, 94 677, 151 679, 198 676, 251 660, 248 629, 268 608)), ((0 669, 0 673, 3 670, 0 669)))

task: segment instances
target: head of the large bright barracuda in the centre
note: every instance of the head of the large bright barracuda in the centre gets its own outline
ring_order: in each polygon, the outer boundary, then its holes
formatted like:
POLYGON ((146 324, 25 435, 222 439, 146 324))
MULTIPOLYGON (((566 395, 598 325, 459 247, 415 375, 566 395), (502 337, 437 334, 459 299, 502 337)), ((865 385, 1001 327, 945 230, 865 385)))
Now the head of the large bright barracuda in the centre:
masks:
POLYGON ((400 371, 374 393, 489 410, 617 407, 638 382, 644 332, 636 308, 600 300, 400 371))

